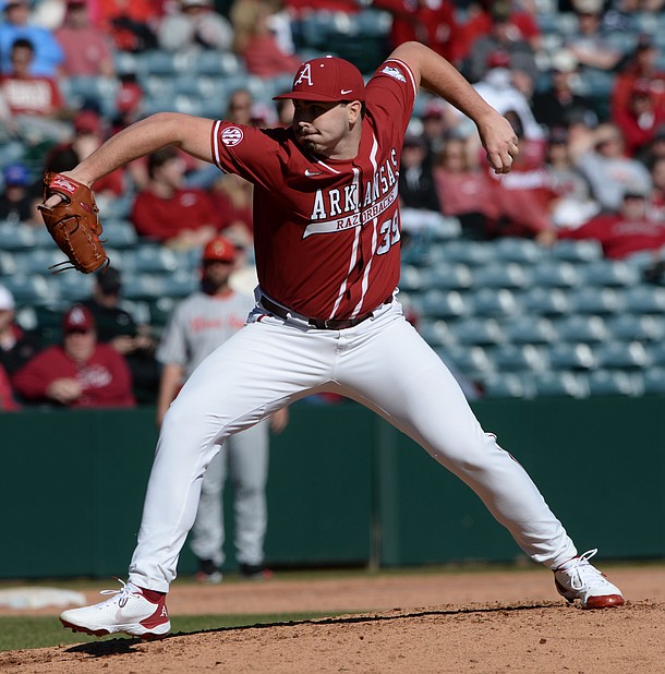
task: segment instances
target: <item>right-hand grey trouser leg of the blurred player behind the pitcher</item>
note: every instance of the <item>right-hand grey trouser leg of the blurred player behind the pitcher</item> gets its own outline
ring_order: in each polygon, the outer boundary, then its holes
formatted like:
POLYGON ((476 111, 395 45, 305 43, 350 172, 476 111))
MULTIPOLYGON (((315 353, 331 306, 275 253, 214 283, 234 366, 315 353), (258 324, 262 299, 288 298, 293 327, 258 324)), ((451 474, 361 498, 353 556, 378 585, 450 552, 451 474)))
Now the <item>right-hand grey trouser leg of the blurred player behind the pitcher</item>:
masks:
POLYGON ((235 556, 240 564, 261 566, 268 522, 268 426, 262 421, 230 440, 229 473, 233 482, 235 556))

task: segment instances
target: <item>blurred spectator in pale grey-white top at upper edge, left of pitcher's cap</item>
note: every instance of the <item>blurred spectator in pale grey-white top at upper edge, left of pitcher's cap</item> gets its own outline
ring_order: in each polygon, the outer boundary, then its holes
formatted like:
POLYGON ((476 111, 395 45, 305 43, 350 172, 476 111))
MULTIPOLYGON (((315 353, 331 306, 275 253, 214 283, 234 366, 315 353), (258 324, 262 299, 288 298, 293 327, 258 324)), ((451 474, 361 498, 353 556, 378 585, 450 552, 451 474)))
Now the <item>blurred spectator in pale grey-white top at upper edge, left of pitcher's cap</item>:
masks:
POLYGON ((233 28, 213 9, 211 0, 180 0, 174 11, 161 20, 157 39, 159 47, 169 51, 230 51, 233 28))

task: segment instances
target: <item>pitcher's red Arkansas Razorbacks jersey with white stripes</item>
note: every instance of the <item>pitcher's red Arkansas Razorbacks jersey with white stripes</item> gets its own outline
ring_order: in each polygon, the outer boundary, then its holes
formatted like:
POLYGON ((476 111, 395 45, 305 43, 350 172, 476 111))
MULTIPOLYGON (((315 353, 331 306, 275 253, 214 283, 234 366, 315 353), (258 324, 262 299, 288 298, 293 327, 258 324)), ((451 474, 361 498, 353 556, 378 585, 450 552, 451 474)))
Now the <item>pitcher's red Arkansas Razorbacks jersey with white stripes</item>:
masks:
POLYGON ((256 270, 270 298, 340 320, 390 297, 400 273, 399 160, 416 91, 404 63, 380 65, 351 160, 307 153, 291 129, 215 123, 215 163, 255 185, 256 270))

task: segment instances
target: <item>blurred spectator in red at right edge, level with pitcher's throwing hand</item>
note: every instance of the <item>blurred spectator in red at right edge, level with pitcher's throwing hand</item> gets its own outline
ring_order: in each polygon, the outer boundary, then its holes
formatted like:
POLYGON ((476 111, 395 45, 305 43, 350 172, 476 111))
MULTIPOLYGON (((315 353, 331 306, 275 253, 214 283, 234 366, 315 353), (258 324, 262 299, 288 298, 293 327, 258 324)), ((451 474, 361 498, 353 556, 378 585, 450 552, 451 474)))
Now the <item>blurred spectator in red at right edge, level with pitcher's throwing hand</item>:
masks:
MULTIPOLYGON (((665 80, 660 86, 665 88, 665 80)), ((660 127, 665 124, 665 98, 653 88, 649 80, 637 80, 625 107, 613 111, 613 120, 621 131, 629 157, 644 152, 660 127)))

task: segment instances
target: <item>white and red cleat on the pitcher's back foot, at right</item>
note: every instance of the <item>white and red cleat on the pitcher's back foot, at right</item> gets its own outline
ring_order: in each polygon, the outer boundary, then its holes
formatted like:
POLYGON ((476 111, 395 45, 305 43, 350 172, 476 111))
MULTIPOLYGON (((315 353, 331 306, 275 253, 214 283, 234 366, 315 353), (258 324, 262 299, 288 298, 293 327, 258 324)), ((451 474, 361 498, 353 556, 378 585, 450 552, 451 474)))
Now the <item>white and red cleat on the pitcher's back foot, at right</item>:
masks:
POLYGON ((582 609, 609 609, 620 606, 624 595, 616 586, 612 585, 604 574, 589 564, 597 549, 589 550, 579 557, 561 564, 554 571, 554 582, 557 592, 573 602, 581 600, 582 609))

